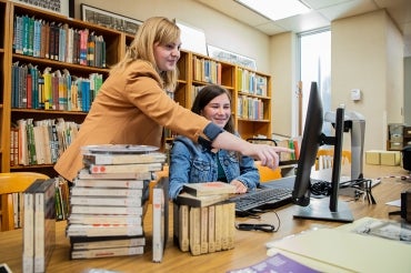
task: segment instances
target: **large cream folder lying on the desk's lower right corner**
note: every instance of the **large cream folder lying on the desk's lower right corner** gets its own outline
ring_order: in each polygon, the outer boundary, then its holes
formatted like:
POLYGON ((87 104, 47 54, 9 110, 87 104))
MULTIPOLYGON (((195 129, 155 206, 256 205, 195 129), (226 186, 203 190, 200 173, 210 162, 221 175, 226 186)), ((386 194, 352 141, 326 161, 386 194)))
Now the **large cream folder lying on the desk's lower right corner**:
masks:
MULTIPOLYGON (((293 259, 334 266, 333 272, 410 272, 411 245, 339 229, 320 229, 272 242, 268 255, 284 252, 293 259)), ((318 269, 318 266, 314 266, 318 269)))

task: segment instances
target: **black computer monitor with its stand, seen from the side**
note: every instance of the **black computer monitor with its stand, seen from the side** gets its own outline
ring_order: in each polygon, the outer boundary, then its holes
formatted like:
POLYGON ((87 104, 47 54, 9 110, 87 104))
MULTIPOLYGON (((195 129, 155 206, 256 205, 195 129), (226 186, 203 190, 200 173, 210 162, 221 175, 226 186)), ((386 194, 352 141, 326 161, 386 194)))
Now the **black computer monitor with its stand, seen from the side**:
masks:
POLYGON ((294 214, 294 218, 352 222, 353 218, 348 205, 338 201, 344 109, 337 109, 334 136, 324 135, 322 133, 322 124, 323 111, 321 97, 318 91, 317 82, 312 82, 305 115, 305 125, 301 142, 300 158, 297 166, 295 183, 292 192, 293 202, 300 205, 294 214), (318 149, 322 144, 333 145, 334 148, 331 175, 332 190, 329 198, 311 199, 311 169, 315 163, 318 149))

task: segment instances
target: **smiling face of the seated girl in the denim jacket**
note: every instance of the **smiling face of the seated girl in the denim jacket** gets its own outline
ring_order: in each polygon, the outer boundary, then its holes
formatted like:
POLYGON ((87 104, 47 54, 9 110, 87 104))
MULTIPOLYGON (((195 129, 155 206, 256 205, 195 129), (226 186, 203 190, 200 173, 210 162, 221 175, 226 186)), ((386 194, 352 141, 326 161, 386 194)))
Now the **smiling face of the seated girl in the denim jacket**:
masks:
POLYGON ((231 117, 229 97, 227 94, 215 97, 201 110, 201 114, 218 127, 224 128, 231 117))

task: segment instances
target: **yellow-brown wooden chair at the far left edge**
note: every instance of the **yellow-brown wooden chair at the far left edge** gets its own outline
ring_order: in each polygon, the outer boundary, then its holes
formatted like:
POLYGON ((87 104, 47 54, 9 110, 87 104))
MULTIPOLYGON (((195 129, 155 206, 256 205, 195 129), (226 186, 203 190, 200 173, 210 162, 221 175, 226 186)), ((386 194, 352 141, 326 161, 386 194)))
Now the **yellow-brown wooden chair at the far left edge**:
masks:
POLYGON ((12 193, 21 193, 37 179, 49 179, 48 175, 36 172, 0 173, 0 229, 14 229, 14 206, 12 193))

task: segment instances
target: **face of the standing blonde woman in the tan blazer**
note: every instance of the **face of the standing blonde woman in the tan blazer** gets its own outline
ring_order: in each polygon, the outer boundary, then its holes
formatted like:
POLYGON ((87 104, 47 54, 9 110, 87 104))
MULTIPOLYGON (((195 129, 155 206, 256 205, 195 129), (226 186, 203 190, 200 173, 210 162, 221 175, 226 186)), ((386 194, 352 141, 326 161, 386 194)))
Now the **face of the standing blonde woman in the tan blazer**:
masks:
POLYGON ((167 44, 154 43, 154 59, 160 72, 176 70, 180 59, 180 39, 167 44))

